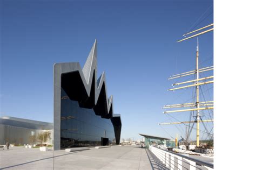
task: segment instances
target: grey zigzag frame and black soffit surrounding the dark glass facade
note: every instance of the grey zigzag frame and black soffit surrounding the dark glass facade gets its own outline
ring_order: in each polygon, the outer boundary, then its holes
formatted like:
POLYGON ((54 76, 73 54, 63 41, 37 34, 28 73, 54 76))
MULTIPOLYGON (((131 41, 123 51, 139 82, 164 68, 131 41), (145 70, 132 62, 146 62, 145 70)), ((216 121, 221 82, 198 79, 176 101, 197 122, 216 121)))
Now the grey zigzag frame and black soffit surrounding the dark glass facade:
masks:
MULTIPOLYGON (((75 93, 75 95, 76 93, 81 95, 79 97, 82 97, 82 98, 79 98, 79 100, 82 99, 82 102, 86 104, 87 100, 89 99, 90 100, 88 103, 89 109, 91 109, 92 107, 93 109, 96 109, 95 110, 96 115, 99 114, 98 116, 102 116, 102 118, 111 119, 111 122, 114 128, 114 135, 116 137, 116 143, 119 144, 122 121, 119 114, 113 114, 113 96, 110 96, 107 99, 105 73, 103 72, 103 74, 96 81, 97 79, 97 40, 95 40, 95 43, 91 48, 91 52, 85 62, 83 69, 80 67, 79 62, 55 63, 53 65, 54 138, 55 138, 54 149, 60 150, 60 130, 61 130, 60 117, 61 117, 61 104, 62 104, 61 89, 62 89, 62 81, 64 81, 65 83, 66 81, 65 76, 68 76, 68 75, 70 76, 75 75, 75 77, 73 78, 76 79, 75 81, 78 81, 78 82, 70 82, 71 84, 74 85, 74 86, 71 86, 70 88, 74 88, 76 86, 78 86, 78 88, 82 88, 82 89, 78 89, 78 91, 71 90, 72 92, 75 93), (77 74, 77 72, 79 73, 79 75, 77 74), (79 80, 77 80, 77 78, 79 80), (93 80, 95 82, 92 82, 93 80), (92 85, 95 87, 92 87, 92 85), (83 91, 79 91, 79 90, 83 90, 83 91), (94 96, 90 96, 90 95, 94 95, 94 96), (102 95, 104 95, 104 98, 102 95), (104 105, 98 105, 97 107, 97 104, 104 104, 104 105), (99 111, 99 108, 102 108, 103 112, 99 111), (98 113, 96 113, 96 111, 98 113)), ((80 101, 77 101, 77 102, 80 102, 80 101)), ((80 106, 80 103, 79 103, 79 106, 80 106)))

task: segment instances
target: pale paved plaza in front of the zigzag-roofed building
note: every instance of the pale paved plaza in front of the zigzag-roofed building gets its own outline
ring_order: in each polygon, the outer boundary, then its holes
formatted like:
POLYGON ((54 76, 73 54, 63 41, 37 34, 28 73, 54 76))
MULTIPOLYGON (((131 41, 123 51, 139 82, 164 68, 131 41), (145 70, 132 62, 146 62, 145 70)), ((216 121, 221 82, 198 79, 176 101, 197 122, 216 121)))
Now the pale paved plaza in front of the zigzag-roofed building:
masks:
POLYGON ((112 146, 65 152, 39 148, 10 147, 0 151, 0 169, 165 169, 145 148, 112 146))

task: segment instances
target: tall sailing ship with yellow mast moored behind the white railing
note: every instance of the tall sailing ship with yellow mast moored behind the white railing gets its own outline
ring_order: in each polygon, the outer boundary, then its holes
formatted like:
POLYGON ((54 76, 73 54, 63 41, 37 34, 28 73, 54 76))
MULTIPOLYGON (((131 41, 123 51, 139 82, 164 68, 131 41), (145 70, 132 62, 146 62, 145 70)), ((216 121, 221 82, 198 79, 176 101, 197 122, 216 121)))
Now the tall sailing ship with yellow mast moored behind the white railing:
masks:
MULTIPOLYGON (((211 86, 213 88, 213 65, 200 67, 198 39, 200 35, 211 31, 213 31, 213 23, 185 33, 183 35, 184 38, 177 41, 180 43, 197 38, 197 44, 195 44, 196 53, 194 56, 191 56, 195 59, 194 69, 170 76, 168 80, 172 81, 172 88, 167 89, 167 91, 174 91, 176 93, 179 90, 189 88, 192 91, 192 98, 191 100, 186 100, 187 102, 185 103, 172 103, 163 107, 165 109, 164 114, 184 114, 184 120, 180 121, 175 117, 171 117, 172 122, 159 123, 159 125, 182 125, 185 128, 185 134, 181 134, 179 144, 178 135, 176 137, 176 148, 173 148, 173 151, 176 152, 213 155, 213 97, 206 97, 209 94, 210 88, 206 88, 206 90, 202 88, 203 86, 211 86), (179 80, 184 79, 184 77, 188 79, 180 82, 179 80), (196 135, 196 138, 194 136, 192 138, 193 133, 196 135)), ((213 93, 213 90, 211 92, 213 93)))

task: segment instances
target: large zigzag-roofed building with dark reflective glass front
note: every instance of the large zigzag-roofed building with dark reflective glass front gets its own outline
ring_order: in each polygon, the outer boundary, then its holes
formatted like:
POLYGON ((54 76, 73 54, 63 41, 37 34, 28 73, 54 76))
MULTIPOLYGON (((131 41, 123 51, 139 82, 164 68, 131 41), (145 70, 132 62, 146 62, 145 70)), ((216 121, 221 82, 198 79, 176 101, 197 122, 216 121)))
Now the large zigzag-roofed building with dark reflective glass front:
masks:
POLYGON ((69 62, 53 69, 54 149, 119 144, 120 115, 107 98, 105 74, 97 80, 97 41, 83 68, 69 62))

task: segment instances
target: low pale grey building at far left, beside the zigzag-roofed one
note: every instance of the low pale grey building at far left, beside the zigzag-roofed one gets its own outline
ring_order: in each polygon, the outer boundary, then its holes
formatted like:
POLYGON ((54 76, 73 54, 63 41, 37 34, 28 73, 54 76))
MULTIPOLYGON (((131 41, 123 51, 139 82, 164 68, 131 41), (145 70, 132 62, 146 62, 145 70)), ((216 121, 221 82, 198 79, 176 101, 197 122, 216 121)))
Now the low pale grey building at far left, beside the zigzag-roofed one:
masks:
MULTIPOLYGON (((0 118, 0 145, 7 141, 15 145, 30 144, 30 136, 37 136, 44 131, 51 131, 51 139, 47 144, 52 144, 53 123, 4 116, 0 118)), ((39 144, 39 141, 36 140, 36 143, 39 144)))

